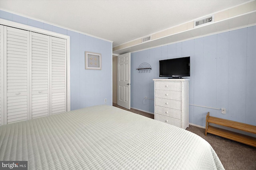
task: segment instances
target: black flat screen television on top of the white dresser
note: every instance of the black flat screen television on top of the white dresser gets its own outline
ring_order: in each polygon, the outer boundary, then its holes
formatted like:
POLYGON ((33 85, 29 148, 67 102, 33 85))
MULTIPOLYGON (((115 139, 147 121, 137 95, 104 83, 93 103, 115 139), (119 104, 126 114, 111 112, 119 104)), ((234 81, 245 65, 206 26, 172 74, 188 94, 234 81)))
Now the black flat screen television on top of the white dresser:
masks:
POLYGON ((190 76, 190 57, 159 61, 159 77, 182 78, 190 76))

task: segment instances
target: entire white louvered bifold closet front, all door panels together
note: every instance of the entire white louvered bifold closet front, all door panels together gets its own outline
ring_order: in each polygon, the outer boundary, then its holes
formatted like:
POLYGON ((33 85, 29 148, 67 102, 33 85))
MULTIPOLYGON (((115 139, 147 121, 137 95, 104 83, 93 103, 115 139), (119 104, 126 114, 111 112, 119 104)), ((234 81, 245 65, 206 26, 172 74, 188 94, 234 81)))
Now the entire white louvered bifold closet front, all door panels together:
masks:
POLYGON ((0 125, 67 111, 66 39, 0 25, 0 125))

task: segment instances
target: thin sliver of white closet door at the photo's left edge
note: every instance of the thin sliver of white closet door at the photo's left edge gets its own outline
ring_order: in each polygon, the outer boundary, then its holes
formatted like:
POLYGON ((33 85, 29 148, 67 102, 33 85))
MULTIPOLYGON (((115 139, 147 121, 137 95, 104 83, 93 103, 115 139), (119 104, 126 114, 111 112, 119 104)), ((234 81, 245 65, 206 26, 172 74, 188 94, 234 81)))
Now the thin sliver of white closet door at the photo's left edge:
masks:
POLYGON ((4 25, 0 25, 0 125, 4 123, 4 25))

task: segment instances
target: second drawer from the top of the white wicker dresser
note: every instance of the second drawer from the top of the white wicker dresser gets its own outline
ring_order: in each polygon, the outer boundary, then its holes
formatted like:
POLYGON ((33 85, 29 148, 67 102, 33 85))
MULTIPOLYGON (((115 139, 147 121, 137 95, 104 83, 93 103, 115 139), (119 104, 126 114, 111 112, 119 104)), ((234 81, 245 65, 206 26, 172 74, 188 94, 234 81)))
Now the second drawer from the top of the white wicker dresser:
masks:
POLYGON ((181 92, 168 91, 168 90, 156 90, 156 98, 172 99, 181 101, 181 92))

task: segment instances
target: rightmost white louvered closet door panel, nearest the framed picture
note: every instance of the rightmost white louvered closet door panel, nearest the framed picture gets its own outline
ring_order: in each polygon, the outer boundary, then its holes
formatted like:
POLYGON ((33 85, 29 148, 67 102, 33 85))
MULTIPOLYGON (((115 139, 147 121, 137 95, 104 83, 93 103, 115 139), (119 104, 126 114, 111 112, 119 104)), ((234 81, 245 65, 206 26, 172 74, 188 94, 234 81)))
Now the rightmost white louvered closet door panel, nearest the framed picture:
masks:
POLYGON ((62 113, 66 108, 66 39, 50 37, 50 114, 62 113))

